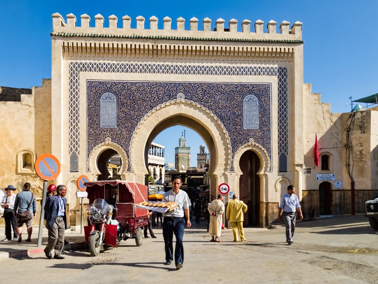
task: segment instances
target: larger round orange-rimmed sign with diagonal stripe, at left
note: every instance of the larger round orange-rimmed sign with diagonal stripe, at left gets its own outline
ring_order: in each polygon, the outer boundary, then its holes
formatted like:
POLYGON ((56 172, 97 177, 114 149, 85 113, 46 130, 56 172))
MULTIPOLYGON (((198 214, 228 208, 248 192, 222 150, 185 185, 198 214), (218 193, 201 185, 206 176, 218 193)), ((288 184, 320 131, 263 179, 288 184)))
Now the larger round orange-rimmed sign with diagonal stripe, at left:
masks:
POLYGON ((35 163, 36 174, 43 180, 54 180, 60 173, 60 163, 51 154, 40 155, 35 163))

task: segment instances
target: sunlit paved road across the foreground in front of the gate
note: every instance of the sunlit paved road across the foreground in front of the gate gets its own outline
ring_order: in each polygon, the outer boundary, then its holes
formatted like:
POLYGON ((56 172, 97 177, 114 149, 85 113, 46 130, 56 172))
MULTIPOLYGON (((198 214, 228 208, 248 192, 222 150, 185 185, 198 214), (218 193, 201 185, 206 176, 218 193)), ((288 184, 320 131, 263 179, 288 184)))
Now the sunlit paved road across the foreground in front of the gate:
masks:
MULTIPOLYGON (((25 258, 2 258, 0 264, 17 275, 18 282, 24 279, 39 284, 378 283, 378 231, 370 228, 363 216, 299 222, 290 246, 285 242, 283 225, 271 230, 245 228, 248 241, 237 243, 232 242, 230 229, 222 231, 222 243, 209 242, 204 228, 203 224, 194 224, 186 230, 181 270, 176 270, 174 264, 163 264, 161 227, 154 228, 157 238, 144 239, 141 247, 128 240, 97 257, 91 257, 86 250, 71 250, 65 251, 61 261, 49 260, 39 253, 25 258)), ((70 238, 74 241, 74 237, 70 238)), ((0 246, 0 250, 5 247, 0 246)))

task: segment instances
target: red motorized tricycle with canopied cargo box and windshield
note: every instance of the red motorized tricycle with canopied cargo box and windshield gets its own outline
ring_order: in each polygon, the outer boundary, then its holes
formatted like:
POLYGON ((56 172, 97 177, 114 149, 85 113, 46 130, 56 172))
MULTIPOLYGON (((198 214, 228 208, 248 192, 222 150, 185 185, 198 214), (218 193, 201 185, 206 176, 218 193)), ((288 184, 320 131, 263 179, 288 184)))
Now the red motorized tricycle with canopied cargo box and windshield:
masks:
POLYGON ((143 242, 143 226, 147 226, 147 210, 135 203, 147 200, 147 186, 118 180, 86 182, 89 199, 88 226, 85 241, 92 256, 101 245, 117 245, 133 238, 137 246, 143 242))

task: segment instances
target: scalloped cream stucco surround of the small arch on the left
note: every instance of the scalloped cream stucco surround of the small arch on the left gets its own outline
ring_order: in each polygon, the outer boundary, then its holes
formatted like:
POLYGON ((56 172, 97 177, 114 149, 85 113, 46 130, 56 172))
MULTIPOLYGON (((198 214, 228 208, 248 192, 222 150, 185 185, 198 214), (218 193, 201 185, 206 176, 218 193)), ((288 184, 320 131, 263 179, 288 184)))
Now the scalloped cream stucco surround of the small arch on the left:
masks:
POLYGON ((107 137, 105 138, 105 141, 98 144, 96 147, 92 149, 92 151, 89 154, 88 164, 89 164, 89 170, 90 172, 93 172, 95 174, 101 174, 97 167, 97 159, 99 155, 101 155, 102 152, 104 152, 107 149, 113 149, 121 156, 121 169, 119 172, 125 172, 127 169, 127 166, 129 164, 129 161, 126 156, 125 150, 119 146, 117 143, 112 142, 112 138, 107 137))

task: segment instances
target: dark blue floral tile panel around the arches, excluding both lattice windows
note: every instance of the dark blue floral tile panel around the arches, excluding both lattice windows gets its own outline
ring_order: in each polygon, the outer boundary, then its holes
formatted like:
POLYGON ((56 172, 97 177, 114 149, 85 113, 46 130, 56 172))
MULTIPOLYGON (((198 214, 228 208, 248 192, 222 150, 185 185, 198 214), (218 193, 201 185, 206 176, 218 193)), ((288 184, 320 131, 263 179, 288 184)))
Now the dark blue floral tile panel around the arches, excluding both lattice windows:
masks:
MULTIPOLYGON (((135 82, 87 80, 87 149, 90 151, 106 137, 125 149, 128 155, 133 132, 142 118, 161 103, 176 99, 201 103, 225 127, 231 138, 231 151, 254 138, 271 158, 271 84, 263 83, 206 83, 206 82, 135 82), (118 95, 118 128, 99 128, 99 96, 104 92, 118 95), (242 99, 254 93, 260 103, 258 129, 243 129, 242 99)), ((88 153, 89 154, 89 153, 88 153)), ((231 159, 234 153, 231 153, 231 159)), ((231 165, 232 160, 230 161, 231 165)), ((131 168, 132 165, 129 165, 131 168)), ((231 169, 233 170, 233 168, 231 169)))

